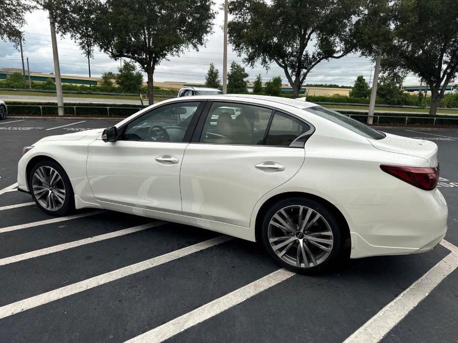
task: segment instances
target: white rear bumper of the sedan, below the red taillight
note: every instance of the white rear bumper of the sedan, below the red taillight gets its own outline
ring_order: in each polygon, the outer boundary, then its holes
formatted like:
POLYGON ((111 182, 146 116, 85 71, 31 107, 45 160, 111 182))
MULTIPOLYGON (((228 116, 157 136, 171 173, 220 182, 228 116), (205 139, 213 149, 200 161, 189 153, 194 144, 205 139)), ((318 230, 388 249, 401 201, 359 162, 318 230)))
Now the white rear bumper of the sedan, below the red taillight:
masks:
POLYGON ((447 203, 438 189, 401 182, 386 204, 338 208, 350 227, 351 258, 426 252, 447 231, 447 203))

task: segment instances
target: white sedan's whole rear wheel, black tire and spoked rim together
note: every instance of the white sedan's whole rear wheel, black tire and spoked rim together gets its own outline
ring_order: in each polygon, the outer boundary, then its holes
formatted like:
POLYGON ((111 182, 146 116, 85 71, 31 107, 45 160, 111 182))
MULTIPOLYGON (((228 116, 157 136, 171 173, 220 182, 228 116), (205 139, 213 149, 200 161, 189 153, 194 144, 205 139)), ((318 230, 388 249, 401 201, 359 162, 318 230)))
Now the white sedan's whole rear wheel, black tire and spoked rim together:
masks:
POLYGON ((272 205, 265 214, 262 243, 282 267, 314 274, 338 265, 344 251, 341 226, 336 216, 319 202, 285 199, 272 205))

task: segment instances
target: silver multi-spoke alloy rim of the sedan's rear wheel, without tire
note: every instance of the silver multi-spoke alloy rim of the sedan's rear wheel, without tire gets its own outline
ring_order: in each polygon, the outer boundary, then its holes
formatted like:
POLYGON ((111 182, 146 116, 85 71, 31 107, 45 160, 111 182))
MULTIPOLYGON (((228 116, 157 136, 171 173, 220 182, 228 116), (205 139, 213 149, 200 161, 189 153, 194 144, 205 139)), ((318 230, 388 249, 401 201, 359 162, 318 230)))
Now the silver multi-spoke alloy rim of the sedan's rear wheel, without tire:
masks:
POLYGON ((267 234, 277 257, 300 268, 323 263, 334 243, 331 227, 323 215, 302 205, 277 211, 270 219, 267 234))

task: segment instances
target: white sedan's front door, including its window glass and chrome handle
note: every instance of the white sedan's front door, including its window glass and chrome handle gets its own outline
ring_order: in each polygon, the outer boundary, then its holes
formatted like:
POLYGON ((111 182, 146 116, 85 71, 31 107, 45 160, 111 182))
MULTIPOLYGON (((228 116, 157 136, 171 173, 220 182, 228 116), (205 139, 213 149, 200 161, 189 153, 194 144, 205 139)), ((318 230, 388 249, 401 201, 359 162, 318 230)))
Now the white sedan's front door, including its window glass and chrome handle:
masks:
POLYGON ((89 145, 94 197, 118 205, 181 213, 180 168, 204 102, 155 107, 118 130, 118 140, 89 145))

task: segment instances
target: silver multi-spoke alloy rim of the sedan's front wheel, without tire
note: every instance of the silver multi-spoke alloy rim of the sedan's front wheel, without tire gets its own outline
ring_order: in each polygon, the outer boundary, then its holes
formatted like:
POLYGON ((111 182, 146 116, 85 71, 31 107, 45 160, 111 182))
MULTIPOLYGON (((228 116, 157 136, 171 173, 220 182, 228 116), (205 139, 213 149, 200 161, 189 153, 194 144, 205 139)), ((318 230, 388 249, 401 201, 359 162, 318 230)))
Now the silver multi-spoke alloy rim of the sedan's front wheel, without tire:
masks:
POLYGON ((32 190, 38 203, 48 211, 59 210, 65 202, 62 177, 51 167, 42 166, 34 172, 32 190))

